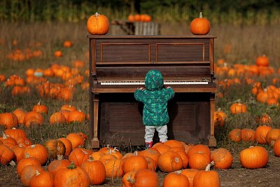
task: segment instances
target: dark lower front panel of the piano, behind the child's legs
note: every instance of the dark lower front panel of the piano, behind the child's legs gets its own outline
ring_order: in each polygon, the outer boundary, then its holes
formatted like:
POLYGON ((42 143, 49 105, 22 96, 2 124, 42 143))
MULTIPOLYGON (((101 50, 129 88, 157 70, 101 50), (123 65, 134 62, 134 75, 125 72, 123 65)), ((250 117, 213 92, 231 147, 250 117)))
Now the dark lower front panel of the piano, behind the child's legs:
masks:
MULTIPOLYGON (((169 139, 192 144, 208 144, 210 104, 207 93, 176 93, 169 102, 169 139)), ((99 140, 102 146, 141 146, 144 144, 143 104, 131 94, 100 95, 99 140)), ((158 142, 158 135, 154 140, 158 142)))

